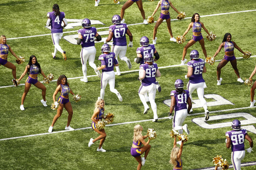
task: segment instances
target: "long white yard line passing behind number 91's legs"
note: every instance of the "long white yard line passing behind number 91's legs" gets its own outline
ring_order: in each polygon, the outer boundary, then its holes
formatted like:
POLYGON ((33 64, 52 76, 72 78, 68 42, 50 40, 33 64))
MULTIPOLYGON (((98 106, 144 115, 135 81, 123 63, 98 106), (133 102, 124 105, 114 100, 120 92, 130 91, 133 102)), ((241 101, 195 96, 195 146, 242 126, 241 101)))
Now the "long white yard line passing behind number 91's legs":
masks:
MULTIPOLYGON (((232 110, 239 110, 239 109, 249 109, 249 108, 255 108, 255 107, 256 107, 256 106, 254 106, 254 107, 240 107, 240 108, 225 109, 225 110, 217 110, 217 111, 210 111, 210 113, 221 112, 221 111, 232 111, 232 110)), ((204 112, 202 112, 202 113, 188 114, 188 116, 200 115, 200 114, 204 114, 204 112)), ((169 118, 168 118, 168 117, 161 117, 161 118, 158 118, 158 120, 161 120, 161 119, 169 119, 169 118)), ((128 121, 128 122, 123 122, 123 123, 109 124, 109 125, 106 125, 106 126, 126 125, 126 124, 131 124, 131 123, 139 123, 139 122, 152 121, 152 120, 153 120, 153 119, 146 119, 146 120, 139 120, 139 121, 128 121)), ((90 129, 90 128, 92 128, 92 127, 83 127, 83 128, 75 129, 75 131, 84 130, 84 129, 90 129)), ((50 135, 50 134, 52 134, 52 133, 62 133, 62 132, 69 132, 69 131, 64 130, 64 131, 56 131, 56 132, 51 132, 51 133, 39 133, 39 134, 26 135, 26 136, 20 136, 20 137, 10 137, 10 138, 0 139, 0 141, 6 141, 6 140, 10 140, 10 139, 19 139, 19 138, 25 138, 25 137, 41 136, 41 135, 50 135)))

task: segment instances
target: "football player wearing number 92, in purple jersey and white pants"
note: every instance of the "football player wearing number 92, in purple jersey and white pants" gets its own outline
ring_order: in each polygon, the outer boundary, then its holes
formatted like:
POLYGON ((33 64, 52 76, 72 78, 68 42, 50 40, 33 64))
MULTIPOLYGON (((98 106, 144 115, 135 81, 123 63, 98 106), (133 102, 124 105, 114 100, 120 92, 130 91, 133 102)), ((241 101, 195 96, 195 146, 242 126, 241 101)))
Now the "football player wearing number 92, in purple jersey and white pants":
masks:
POLYGON ((144 55, 145 64, 140 65, 139 77, 141 80, 141 86, 139 88, 139 96, 142 104, 144 105, 144 114, 148 113, 149 107, 146 102, 146 98, 144 94, 148 93, 148 98, 150 102, 151 109, 154 113, 153 122, 157 122, 157 110, 156 110, 156 77, 160 77, 161 73, 158 70, 158 66, 156 63, 153 63, 153 57, 150 53, 146 53, 144 55))

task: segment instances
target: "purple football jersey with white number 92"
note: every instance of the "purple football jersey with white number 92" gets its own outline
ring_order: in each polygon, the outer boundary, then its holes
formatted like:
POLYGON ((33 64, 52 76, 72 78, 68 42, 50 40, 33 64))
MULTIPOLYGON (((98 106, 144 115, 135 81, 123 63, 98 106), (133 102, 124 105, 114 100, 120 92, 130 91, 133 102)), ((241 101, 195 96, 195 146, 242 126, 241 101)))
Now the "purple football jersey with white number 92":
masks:
POLYGON ((149 64, 141 64, 140 69, 144 69, 146 71, 145 78, 142 80, 143 86, 149 86, 150 84, 156 84, 156 70, 158 66, 156 63, 152 65, 149 64))

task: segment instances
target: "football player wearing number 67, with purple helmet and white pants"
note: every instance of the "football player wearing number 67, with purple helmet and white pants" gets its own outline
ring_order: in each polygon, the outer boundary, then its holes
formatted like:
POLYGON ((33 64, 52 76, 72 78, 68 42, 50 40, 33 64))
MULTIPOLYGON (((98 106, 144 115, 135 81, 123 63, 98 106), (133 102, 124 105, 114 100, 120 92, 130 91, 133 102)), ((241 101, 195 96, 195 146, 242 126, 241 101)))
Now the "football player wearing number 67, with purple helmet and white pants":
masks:
MULTIPOLYGON (((129 36, 130 39, 128 47, 132 47, 132 33, 128 29, 126 23, 121 23, 121 18, 119 15, 114 15, 112 17, 112 23, 114 23, 114 25, 110 25, 109 35, 104 43, 108 43, 113 38, 113 45, 111 51, 116 54, 116 60, 118 61, 117 57, 119 55, 119 58, 122 61, 125 61, 128 68, 131 69, 132 64, 130 62, 130 59, 128 59, 125 55, 127 50, 126 34, 129 36)), ((116 66, 116 75, 121 75, 119 66, 116 66)))

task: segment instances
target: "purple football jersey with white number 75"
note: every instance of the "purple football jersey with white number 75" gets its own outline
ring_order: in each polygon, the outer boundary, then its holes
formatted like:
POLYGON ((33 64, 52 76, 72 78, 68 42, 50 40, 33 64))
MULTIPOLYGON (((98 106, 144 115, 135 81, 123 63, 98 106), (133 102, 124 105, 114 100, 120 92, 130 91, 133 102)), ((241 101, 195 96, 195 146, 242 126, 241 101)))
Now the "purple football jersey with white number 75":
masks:
POLYGON ((82 47, 92 47, 94 46, 94 37, 97 33, 97 29, 95 27, 90 28, 82 28, 78 31, 79 35, 83 36, 81 46, 82 47))

